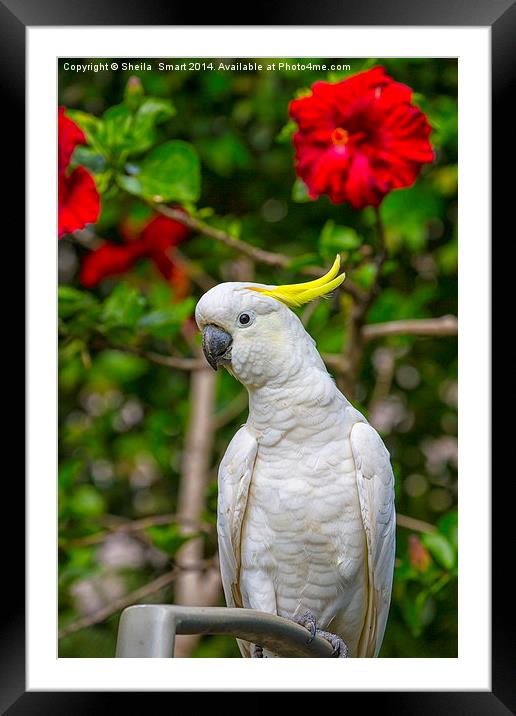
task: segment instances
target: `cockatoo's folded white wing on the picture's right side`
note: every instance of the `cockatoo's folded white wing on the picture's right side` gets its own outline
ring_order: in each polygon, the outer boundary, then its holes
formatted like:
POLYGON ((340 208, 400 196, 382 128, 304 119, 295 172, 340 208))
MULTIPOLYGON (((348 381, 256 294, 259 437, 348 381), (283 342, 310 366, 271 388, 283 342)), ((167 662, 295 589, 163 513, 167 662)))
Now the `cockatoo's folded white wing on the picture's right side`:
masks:
POLYGON ((378 656, 389 613, 394 571, 394 475, 389 453, 368 423, 356 423, 350 439, 367 540, 369 573, 367 612, 358 656, 378 656))

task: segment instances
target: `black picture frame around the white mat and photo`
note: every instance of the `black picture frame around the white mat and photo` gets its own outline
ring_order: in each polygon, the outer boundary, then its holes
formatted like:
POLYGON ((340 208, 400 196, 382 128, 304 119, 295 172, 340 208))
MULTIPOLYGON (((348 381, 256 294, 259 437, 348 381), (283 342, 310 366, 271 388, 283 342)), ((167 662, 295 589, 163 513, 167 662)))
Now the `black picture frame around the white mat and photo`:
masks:
MULTIPOLYGON (((484 26, 491 28, 492 40, 492 235, 504 236, 502 222, 507 207, 514 203, 514 180, 505 179, 506 167, 514 167, 515 131, 511 113, 512 87, 516 78, 516 0, 324 0, 307 2, 289 0, 274 5, 262 2, 252 6, 241 2, 238 6, 203 3, 202 11, 192 4, 179 5, 170 0, 0 0, 0 78, 4 116, 9 120, 8 139, 4 141, 18 147, 16 161, 10 164, 10 214, 17 217, 17 235, 21 234, 21 217, 24 216, 23 186, 25 145, 25 38, 28 26, 62 25, 382 25, 382 26, 484 26), (199 23, 201 15, 202 23, 199 23), (6 112, 8 108, 8 112, 6 112), (16 117, 16 118, 15 118, 16 117), (512 161, 511 161, 512 160, 512 161)), ((474 121, 474 118, 471 118, 474 121)), ((507 235, 506 235, 507 236, 507 235)), ((514 236, 508 237, 514 241, 514 236)), ((12 239, 11 239, 12 241, 12 239)), ((21 237, 20 237, 21 241, 21 237)), ((504 281, 508 262, 496 262, 493 271, 496 283, 504 281)), ((487 267, 486 267, 487 271, 487 267)), ((487 277, 484 277, 487 280, 487 277)), ((510 284, 509 284, 510 285, 510 284)), ((493 303, 493 308, 500 308, 493 303)), ((496 345, 496 344, 494 344, 496 345)), ((29 345, 30 349, 30 345, 29 345)), ((494 436, 493 436, 494 437, 494 436)), ((503 435, 499 438, 503 444, 503 435)), ((509 443, 510 444, 510 443, 509 443)), ((496 454, 493 449, 493 455, 496 454)), ((514 597, 508 588, 507 569, 514 563, 510 540, 503 525, 511 524, 511 500, 507 499, 507 481, 514 482, 509 474, 498 473, 493 481, 493 534, 492 534, 492 691, 455 692, 368 692, 343 695, 342 708, 349 710, 349 699, 358 696, 367 706, 373 699, 384 712, 398 714, 500 714, 516 711, 514 646, 514 597)), ((9 481, 9 503, 16 504, 21 512, 24 503, 24 485, 9 481)), ((512 520, 514 521, 514 520, 512 520)), ((25 615, 24 615, 24 542, 19 525, 16 533, 9 528, 11 540, 5 540, 3 574, 9 575, 8 588, 1 610, 0 634, 0 710, 13 716, 23 714, 83 714, 99 713, 114 707, 123 693, 107 692, 26 692, 25 691, 25 615)), ((512 538, 514 543, 514 538, 512 538)), ((512 571, 512 570, 511 570, 512 571)), ((403 668, 401 666, 401 668, 403 668)), ((338 686, 336 685, 336 689, 338 686)), ((314 688, 314 690, 316 690, 314 688)), ((153 697, 156 694, 153 695, 153 697)), ((146 704, 150 694, 125 694, 131 707, 146 704), (145 699, 145 701, 143 701, 145 699)), ((173 707, 170 694, 166 708, 173 707)), ((243 696, 245 698, 245 696, 243 696)), ((154 701, 154 698, 153 698, 154 701)), ((155 708, 153 705, 152 708, 155 708)))

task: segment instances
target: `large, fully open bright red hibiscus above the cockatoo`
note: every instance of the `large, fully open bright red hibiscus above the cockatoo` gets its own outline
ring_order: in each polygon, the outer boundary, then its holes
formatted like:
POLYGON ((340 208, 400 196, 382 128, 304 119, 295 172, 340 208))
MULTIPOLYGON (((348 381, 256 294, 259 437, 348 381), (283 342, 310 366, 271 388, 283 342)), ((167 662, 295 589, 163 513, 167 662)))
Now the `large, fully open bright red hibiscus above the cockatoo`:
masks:
POLYGON ((310 196, 363 209, 412 185, 434 154, 430 125, 411 99, 409 87, 375 67, 342 82, 316 82, 309 96, 293 100, 296 172, 310 196))

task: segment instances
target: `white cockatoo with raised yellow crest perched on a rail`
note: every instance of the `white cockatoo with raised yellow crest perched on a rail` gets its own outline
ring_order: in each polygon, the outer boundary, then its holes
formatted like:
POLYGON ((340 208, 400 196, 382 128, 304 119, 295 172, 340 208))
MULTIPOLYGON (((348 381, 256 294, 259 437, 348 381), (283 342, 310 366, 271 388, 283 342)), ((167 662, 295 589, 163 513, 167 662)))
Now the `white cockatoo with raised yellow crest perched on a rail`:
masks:
MULTIPOLYGON (((290 310, 339 286, 339 265, 337 257, 325 276, 302 284, 219 284, 195 317, 209 364, 225 366, 249 393, 249 417, 219 468, 227 605, 302 623, 336 656, 374 657, 394 569, 389 453, 290 310)), ((259 645, 239 647, 264 655, 259 645)))

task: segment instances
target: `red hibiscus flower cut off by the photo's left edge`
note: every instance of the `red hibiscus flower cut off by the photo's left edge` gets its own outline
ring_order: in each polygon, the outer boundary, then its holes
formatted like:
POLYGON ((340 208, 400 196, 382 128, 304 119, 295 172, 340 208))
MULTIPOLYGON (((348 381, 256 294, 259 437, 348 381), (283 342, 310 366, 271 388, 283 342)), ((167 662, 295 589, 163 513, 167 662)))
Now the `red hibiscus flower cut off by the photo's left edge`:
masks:
POLYGON ((65 108, 58 113, 58 237, 82 229, 97 221, 100 197, 95 180, 84 167, 68 173, 68 165, 78 144, 86 144, 83 131, 65 116, 65 108))

